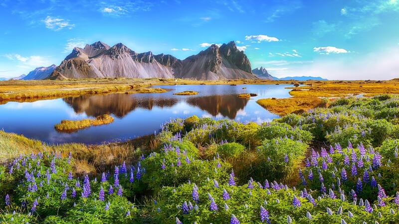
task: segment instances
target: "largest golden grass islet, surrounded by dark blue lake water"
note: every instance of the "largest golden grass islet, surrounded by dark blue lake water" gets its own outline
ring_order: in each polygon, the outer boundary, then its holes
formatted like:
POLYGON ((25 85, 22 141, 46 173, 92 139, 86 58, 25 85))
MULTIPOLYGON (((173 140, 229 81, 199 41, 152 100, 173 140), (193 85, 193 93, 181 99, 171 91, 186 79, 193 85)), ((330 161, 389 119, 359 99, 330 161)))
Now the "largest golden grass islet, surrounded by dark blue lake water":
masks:
POLYGON ((109 124, 114 122, 114 117, 104 114, 96 116, 95 119, 82 119, 82 120, 61 120, 61 123, 55 124, 54 128, 57 131, 70 132, 79 129, 84 129, 90 126, 97 126, 109 124))

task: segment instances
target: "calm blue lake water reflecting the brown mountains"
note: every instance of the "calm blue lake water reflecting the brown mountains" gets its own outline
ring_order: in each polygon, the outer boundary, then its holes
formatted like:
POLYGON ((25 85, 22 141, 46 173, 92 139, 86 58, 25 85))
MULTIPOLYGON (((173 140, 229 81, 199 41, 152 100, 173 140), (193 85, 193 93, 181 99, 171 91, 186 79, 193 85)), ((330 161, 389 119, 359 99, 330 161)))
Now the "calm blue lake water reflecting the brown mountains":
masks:
POLYGON ((170 90, 157 94, 109 94, 68 97, 0 105, 0 128, 48 143, 101 143, 123 141, 158 131, 171 118, 192 115, 261 123, 279 117, 256 103, 263 98, 288 98, 291 85, 177 85, 155 86, 170 90), (246 88, 246 89, 243 89, 246 88), (196 96, 175 96, 193 90, 196 96), (255 93, 251 99, 238 94, 255 93), (62 119, 83 119, 110 114, 111 124, 60 133, 54 125, 62 119))

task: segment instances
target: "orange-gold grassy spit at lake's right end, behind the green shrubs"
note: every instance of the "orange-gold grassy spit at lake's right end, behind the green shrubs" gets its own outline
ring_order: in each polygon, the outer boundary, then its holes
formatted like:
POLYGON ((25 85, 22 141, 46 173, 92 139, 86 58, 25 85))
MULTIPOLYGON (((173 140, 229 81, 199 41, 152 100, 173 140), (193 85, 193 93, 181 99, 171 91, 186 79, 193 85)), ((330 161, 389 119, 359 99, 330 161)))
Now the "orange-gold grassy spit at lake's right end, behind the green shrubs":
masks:
POLYGON ((326 106, 322 99, 317 97, 293 97, 286 99, 261 99, 256 101, 266 110, 278 115, 289 113, 302 113, 316 107, 326 106))

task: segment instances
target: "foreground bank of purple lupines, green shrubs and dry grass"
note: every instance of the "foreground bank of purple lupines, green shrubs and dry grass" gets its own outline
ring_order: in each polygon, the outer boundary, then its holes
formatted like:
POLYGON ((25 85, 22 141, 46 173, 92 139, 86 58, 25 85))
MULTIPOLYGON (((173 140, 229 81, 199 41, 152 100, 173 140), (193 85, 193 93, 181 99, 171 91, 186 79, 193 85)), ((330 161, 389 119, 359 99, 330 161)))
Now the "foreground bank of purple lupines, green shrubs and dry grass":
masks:
POLYGON ((0 132, 0 222, 395 224, 398 115, 382 95, 260 125, 171 119, 121 144, 0 132))

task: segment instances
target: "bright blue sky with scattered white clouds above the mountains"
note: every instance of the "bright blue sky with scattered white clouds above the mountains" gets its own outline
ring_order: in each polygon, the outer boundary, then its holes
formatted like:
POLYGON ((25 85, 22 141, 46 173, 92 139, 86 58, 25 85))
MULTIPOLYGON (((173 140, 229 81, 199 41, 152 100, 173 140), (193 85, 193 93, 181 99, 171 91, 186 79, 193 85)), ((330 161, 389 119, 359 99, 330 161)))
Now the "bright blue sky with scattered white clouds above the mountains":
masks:
POLYGON ((234 40, 276 77, 399 77, 399 0, 0 0, 0 77, 122 42, 180 59, 234 40))

